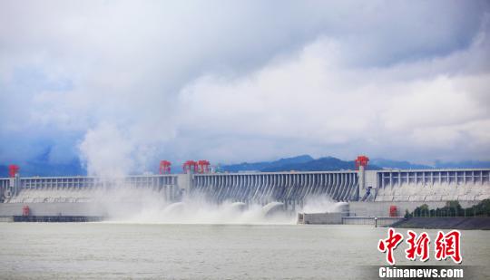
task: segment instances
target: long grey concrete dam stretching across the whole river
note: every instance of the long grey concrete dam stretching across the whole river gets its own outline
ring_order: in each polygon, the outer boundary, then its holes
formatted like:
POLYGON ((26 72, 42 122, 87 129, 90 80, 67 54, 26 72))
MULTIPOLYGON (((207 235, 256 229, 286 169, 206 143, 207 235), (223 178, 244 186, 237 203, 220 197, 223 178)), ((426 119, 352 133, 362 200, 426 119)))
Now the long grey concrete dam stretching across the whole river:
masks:
MULTIPOLYGON (((163 161, 162 161, 163 162, 163 161)), ((443 207, 458 200, 468 207, 490 198, 490 169, 383 169, 310 172, 194 173, 128 176, 118 179, 96 177, 21 177, 18 169, 10 178, 0 178, 0 217, 22 215, 106 216, 99 203, 102 194, 131 188, 133 193, 151 191, 152 196, 178 202, 200 194, 207 200, 282 203, 285 210, 300 208, 305 199, 328 196, 348 202, 350 216, 387 217, 396 207, 398 216, 422 204, 443 207)), ((163 167, 164 171, 167 169, 163 167)), ((162 166, 161 166, 162 170, 162 166)), ((170 170, 170 169, 169 169, 170 170)), ((206 169, 206 171, 208 171, 206 169)), ((166 172, 162 172, 166 173, 166 172)), ((137 195, 136 195, 137 197, 137 195)), ((131 204, 131 201, 121 203, 131 204)))

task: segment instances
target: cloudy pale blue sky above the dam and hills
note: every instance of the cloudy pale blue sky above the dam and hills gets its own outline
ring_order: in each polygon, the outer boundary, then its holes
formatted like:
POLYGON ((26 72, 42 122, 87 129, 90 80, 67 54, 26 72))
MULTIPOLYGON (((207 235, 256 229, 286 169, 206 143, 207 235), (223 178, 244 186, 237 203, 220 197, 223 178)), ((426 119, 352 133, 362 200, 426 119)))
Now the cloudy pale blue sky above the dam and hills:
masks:
POLYGON ((488 160, 489 105, 488 1, 0 0, 4 164, 488 160))

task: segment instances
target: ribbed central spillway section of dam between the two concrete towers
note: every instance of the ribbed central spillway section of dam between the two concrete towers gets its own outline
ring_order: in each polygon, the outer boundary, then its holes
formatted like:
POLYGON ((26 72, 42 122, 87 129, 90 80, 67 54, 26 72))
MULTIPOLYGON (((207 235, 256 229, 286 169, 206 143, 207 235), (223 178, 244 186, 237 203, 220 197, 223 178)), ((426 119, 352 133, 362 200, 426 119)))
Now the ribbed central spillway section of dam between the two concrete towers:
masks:
POLYGON ((337 201, 358 199, 358 174, 343 172, 276 172, 195 175, 193 191, 214 201, 235 200, 300 203, 309 196, 326 195, 337 201))

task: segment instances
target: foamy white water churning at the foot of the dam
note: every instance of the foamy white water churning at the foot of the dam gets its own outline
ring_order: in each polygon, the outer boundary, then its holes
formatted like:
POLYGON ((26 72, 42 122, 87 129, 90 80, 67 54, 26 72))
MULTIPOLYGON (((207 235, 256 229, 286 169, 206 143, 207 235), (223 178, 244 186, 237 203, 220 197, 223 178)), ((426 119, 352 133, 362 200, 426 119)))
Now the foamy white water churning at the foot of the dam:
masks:
POLYGON ((296 223, 299 212, 339 212, 347 205, 328 197, 317 197, 306 199, 303 208, 284 211, 283 203, 278 201, 272 201, 265 206, 231 201, 216 204, 199 195, 184 197, 180 202, 148 199, 140 207, 131 210, 122 208, 114 200, 103 201, 103 203, 110 209, 109 222, 247 225, 290 225, 296 223))

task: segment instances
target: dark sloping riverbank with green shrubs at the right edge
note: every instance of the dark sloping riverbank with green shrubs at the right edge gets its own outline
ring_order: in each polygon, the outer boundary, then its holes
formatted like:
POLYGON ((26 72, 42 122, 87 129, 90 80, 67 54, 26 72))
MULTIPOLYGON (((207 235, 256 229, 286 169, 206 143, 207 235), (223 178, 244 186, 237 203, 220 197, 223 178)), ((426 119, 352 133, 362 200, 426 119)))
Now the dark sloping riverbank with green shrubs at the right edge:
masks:
POLYGON ((409 217, 391 227, 490 230, 490 217, 409 217))

